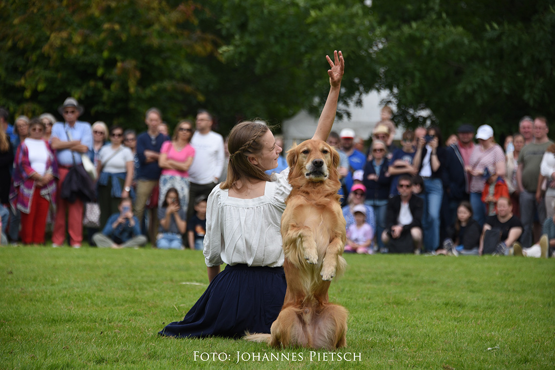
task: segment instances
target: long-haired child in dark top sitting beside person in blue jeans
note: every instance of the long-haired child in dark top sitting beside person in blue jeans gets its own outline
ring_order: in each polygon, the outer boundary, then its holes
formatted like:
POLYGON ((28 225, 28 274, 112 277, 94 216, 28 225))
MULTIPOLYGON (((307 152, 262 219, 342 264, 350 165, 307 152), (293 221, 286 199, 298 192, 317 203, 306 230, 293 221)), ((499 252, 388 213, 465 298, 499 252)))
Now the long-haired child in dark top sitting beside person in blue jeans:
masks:
POLYGON ((443 241, 443 249, 437 250, 436 253, 478 256, 480 234, 480 224, 472 218, 472 206, 470 202, 463 200, 457 207, 455 224, 447 230, 448 238, 443 241))

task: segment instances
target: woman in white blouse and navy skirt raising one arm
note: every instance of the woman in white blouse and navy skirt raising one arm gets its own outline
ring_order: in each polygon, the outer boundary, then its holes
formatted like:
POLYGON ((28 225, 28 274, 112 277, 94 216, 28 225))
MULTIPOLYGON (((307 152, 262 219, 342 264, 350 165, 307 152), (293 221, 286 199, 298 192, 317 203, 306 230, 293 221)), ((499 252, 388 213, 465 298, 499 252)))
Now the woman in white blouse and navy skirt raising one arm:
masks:
MULTIPOLYGON (((330 93, 312 139, 326 140, 334 123, 344 62, 335 52, 330 93)), ((281 148, 263 123, 243 122, 229 134, 230 161, 225 183, 208 197, 204 256, 210 285, 183 321, 159 334, 173 337, 240 337, 269 333, 285 297, 280 220, 291 191, 288 170, 278 166, 281 148), (220 265, 226 263, 220 273, 220 265)))

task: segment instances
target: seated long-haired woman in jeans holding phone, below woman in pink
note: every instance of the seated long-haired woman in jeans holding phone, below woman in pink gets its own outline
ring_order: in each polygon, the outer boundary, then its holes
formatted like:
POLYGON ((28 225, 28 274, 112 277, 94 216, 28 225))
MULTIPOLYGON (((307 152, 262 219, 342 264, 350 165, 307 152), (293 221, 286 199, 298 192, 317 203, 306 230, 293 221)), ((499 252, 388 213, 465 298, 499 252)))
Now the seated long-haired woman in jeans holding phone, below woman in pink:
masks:
MULTIPOLYGON (((156 246, 159 249, 183 249, 183 237, 187 227, 185 209, 181 208, 179 193, 171 187, 164 196, 162 205, 158 208, 160 220, 159 234, 156 246)), ((194 245, 191 246, 191 249, 194 245)))

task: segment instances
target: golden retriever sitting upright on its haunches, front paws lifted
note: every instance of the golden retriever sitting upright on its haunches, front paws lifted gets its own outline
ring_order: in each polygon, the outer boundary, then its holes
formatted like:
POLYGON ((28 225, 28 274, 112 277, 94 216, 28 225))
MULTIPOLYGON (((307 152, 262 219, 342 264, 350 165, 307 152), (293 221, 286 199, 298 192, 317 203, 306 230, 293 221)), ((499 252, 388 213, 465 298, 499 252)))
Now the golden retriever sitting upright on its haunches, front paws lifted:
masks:
POLYGON ((339 154, 306 140, 287 154, 291 194, 281 217, 287 280, 284 305, 271 334, 247 336, 273 347, 334 350, 346 345, 347 310, 329 302, 334 276, 344 272, 345 219, 339 202, 339 154))

